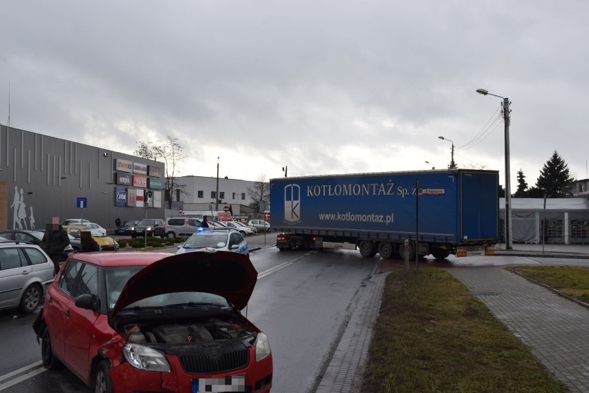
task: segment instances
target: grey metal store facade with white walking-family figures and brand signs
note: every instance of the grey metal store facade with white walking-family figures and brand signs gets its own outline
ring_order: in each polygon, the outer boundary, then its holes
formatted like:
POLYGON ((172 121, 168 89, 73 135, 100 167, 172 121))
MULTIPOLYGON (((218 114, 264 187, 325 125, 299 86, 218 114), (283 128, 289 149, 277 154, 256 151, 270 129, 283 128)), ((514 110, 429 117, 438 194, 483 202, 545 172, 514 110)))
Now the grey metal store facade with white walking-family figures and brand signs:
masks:
MULTIPOLYGON (((147 200, 147 192, 143 190, 149 189, 149 180, 164 184, 164 165, 0 125, 0 228, 44 229, 45 224, 57 217, 59 222, 66 218, 84 218, 113 229, 118 217, 121 220, 140 220, 146 216, 164 218, 161 186, 153 190, 158 200, 150 200, 152 207, 131 207, 127 202, 125 206, 116 206, 118 190, 124 190, 124 195, 127 190, 134 190, 133 195, 141 191, 141 198, 145 194, 147 200), (117 171, 120 169, 117 164, 123 160, 153 168, 157 176, 145 175, 147 184, 136 189, 135 184, 117 184, 117 174, 122 173, 117 171)), ((127 172, 133 178, 132 170, 127 172)), ((151 195, 149 193, 149 197, 151 195)), ((121 195, 118 204, 120 200, 121 195)))

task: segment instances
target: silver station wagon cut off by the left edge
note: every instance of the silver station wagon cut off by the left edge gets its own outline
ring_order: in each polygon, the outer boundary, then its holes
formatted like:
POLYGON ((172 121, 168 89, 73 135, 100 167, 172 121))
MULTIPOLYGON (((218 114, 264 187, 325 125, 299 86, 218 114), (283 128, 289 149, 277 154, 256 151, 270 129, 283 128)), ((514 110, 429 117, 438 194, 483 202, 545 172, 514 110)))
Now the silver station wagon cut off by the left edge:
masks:
POLYGON ((53 281, 54 269, 41 247, 29 242, 0 242, 0 309, 35 311, 53 281))

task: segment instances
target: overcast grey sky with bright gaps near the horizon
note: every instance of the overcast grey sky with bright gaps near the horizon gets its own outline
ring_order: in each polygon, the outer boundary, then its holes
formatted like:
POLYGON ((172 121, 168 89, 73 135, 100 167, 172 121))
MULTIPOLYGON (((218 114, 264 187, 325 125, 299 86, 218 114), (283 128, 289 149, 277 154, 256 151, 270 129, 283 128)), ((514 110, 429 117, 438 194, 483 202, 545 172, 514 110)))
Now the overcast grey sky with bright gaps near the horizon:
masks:
POLYGON ((177 175, 442 169, 451 140, 459 167, 505 184, 485 88, 512 102, 512 192, 555 150, 588 178, 585 0, 12 0, 0 15, 1 124, 10 104, 12 127, 129 154, 169 135, 177 175))

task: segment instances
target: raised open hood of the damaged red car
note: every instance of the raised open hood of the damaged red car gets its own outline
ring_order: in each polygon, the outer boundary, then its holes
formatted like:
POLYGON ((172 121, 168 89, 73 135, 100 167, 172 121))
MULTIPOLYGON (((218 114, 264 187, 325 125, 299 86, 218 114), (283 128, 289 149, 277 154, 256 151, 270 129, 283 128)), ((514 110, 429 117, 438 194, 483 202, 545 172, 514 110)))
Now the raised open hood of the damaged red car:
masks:
POLYGON ((138 300, 174 292, 207 292, 243 309, 252 296, 258 272, 250 258, 231 251, 191 252, 163 258, 129 279, 112 310, 138 300))

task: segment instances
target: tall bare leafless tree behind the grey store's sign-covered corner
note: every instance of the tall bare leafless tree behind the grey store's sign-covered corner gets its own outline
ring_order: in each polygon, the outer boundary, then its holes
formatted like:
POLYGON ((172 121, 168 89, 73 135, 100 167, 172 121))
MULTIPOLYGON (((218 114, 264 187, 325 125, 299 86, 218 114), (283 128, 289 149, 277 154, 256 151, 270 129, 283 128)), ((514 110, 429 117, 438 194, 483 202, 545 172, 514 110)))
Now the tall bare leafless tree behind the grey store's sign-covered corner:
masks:
POLYGON ((178 139, 169 135, 167 140, 158 140, 157 142, 137 142, 139 148, 133 151, 134 155, 144 157, 148 160, 162 160, 166 165, 164 190, 168 202, 168 209, 171 209, 172 197, 174 192, 187 194, 186 184, 177 184, 176 175, 178 166, 185 162, 187 156, 182 153, 183 146, 178 143, 178 139))

